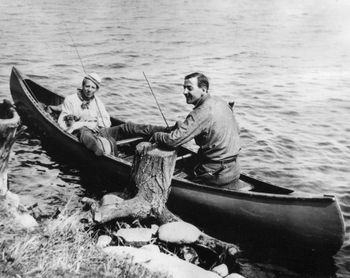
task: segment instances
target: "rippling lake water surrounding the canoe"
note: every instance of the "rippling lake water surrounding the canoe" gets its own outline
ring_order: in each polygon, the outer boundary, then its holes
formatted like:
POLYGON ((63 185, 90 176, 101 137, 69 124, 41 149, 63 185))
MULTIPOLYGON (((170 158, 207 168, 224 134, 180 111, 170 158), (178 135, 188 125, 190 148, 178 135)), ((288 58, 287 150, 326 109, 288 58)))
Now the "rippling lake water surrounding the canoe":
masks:
MULTIPOLYGON (((334 270, 307 277, 349 277, 349 14, 346 0, 0 0, 0 96, 11 99, 12 66, 73 93, 83 77, 75 44, 86 71, 103 77, 99 95, 111 114, 162 124, 142 72, 169 122, 191 110, 183 77, 205 73, 213 95, 236 103, 244 172, 338 197, 346 241, 334 270)), ((10 167, 11 190, 48 214, 84 194, 80 172, 30 134, 10 167)))

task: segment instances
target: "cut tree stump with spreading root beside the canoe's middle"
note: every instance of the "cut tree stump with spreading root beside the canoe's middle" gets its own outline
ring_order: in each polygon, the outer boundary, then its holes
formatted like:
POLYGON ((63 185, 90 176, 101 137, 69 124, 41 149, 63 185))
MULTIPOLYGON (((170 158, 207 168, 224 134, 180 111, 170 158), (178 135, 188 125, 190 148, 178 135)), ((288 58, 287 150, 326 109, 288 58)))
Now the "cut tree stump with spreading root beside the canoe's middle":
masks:
POLYGON ((156 218, 161 222, 177 220, 166 208, 170 184, 176 163, 174 150, 162 150, 149 142, 136 146, 131 170, 129 192, 137 191, 134 198, 115 204, 99 204, 93 208, 94 220, 104 223, 114 218, 156 218))

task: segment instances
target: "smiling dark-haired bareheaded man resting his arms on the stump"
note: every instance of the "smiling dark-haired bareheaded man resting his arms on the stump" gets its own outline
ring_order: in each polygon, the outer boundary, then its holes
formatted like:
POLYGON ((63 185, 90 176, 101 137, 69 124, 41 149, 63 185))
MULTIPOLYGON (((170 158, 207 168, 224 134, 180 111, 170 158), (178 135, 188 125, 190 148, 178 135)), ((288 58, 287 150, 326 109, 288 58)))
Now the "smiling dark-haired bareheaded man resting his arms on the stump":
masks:
POLYGON ((234 187, 240 175, 239 127, 232 107, 209 94, 208 78, 201 73, 185 77, 184 95, 194 105, 185 121, 170 133, 156 132, 151 141, 176 148, 191 139, 199 146, 193 180, 234 187))

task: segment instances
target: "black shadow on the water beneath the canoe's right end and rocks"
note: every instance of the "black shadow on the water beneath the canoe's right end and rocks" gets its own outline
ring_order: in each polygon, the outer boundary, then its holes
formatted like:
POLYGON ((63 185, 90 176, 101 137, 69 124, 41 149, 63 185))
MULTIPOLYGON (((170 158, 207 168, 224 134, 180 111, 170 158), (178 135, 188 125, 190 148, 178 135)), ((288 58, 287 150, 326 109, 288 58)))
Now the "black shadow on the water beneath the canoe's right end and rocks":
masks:
MULTIPOLYGON (((220 230, 213 225, 199 227, 203 227, 206 233, 225 240, 220 230)), ((234 270, 245 277, 335 277, 337 268, 332 254, 327 253, 328 250, 317 252, 295 241, 286 241, 278 235, 264 233, 252 225, 238 227, 234 233, 234 243, 242 253, 239 254, 234 270)))

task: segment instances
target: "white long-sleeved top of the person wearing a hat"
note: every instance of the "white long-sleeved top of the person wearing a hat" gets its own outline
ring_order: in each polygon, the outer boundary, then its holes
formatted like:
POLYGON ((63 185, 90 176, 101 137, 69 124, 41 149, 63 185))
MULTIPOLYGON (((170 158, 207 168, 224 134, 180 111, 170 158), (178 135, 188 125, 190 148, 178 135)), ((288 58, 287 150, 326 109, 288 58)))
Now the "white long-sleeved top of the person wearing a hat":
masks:
POLYGON ((79 121, 74 124, 73 128, 69 129, 69 132, 82 126, 88 128, 111 126, 110 116, 102 101, 96 95, 87 108, 83 109, 82 104, 83 101, 79 98, 78 93, 65 98, 62 105, 62 112, 58 118, 58 124, 61 128, 65 130, 68 128, 64 121, 64 117, 67 115, 74 115, 80 118, 79 121))

